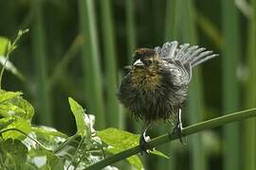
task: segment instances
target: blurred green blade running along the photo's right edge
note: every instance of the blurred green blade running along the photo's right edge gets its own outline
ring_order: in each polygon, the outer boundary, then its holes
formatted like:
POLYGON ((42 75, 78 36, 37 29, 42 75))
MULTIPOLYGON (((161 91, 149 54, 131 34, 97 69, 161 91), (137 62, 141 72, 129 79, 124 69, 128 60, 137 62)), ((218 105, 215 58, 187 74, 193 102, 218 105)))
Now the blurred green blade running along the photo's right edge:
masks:
MULTIPOLYGON (((256 0, 251 0, 254 8, 252 18, 248 23, 247 32, 247 96, 246 106, 256 106, 256 0)), ((254 170, 256 167, 256 119, 245 121, 245 149, 243 167, 247 170, 254 170)))

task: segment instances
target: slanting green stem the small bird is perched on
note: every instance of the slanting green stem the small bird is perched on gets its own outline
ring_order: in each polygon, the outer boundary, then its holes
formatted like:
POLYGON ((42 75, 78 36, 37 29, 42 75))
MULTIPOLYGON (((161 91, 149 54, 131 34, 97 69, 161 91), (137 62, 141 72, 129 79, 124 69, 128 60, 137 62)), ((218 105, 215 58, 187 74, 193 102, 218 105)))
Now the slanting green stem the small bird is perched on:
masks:
MULTIPOLYGON (((221 117, 217 117, 214 119, 210 119, 204 122, 199 122, 197 124, 193 124, 192 126, 185 127, 182 130, 182 136, 188 136, 203 130, 206 130, 208 128, 213 128, 213 127, 220 127, 225 124, 229 124, 234 121, 242 120, 242 119, 247 119, 249 117, 256 116, 256 108, 249 109, 249 110, 242 110, 242 111, 237 111, 234 113, 226 114, 221 117)), ((174 141, 178 139, 178 135, 176 133, 172 134, 164 134, 159 137, 156 137, 155 139, 151 140, 149 143, 145 144, 147 148, 154 148, 155 146, 158 146, 160 144, 165 144, 171 141, 174 141)), ((114 162, 124 160, 126 158, 129 158, 139 152, 141 152, 141 147, 139 145, 135 147, 131 147, 127 150, 121 151, 118 154, 109 157, 103 161, 99 161, 91 166, 88 166, 86 169, 101 169, 107 165, 110 165, 114 162)))

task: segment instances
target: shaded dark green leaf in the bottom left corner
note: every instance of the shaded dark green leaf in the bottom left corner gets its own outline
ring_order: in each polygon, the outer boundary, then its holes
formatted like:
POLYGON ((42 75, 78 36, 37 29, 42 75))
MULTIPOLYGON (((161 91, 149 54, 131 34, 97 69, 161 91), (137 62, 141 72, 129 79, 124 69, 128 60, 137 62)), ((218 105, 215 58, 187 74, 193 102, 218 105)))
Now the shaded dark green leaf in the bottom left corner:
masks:
POLYGON ((0 155, 3 164, 9 169, 20 169, 27 161, 27 147, 19 140, 7 139, 0 144, 0 155))

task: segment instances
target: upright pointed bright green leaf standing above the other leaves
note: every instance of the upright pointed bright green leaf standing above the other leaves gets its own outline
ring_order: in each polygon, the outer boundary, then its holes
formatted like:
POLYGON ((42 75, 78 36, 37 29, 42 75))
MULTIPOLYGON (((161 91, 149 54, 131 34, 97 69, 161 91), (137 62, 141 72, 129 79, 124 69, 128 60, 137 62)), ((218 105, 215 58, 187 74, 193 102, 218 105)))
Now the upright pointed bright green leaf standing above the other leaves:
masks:
POLYGON ((73 98, 68 97, 68 102, 76 119, 77 133, 83 137, 89 132, 89 128, 86 126, 89 124, 89 122, 86 121, 85 112, 82 109, 82 106, 73 98))

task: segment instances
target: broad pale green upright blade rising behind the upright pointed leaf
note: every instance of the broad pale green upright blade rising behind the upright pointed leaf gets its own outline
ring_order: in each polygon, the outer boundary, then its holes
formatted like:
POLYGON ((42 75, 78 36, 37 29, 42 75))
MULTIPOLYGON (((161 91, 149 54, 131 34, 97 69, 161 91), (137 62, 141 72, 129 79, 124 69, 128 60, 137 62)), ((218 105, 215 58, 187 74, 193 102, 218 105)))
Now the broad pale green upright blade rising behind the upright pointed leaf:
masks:
POLYGON ((105 127, 100 50, 93 0, 78 0, 82 45, 82 67, 88 113, 96 115, 96 127, 105 127))

